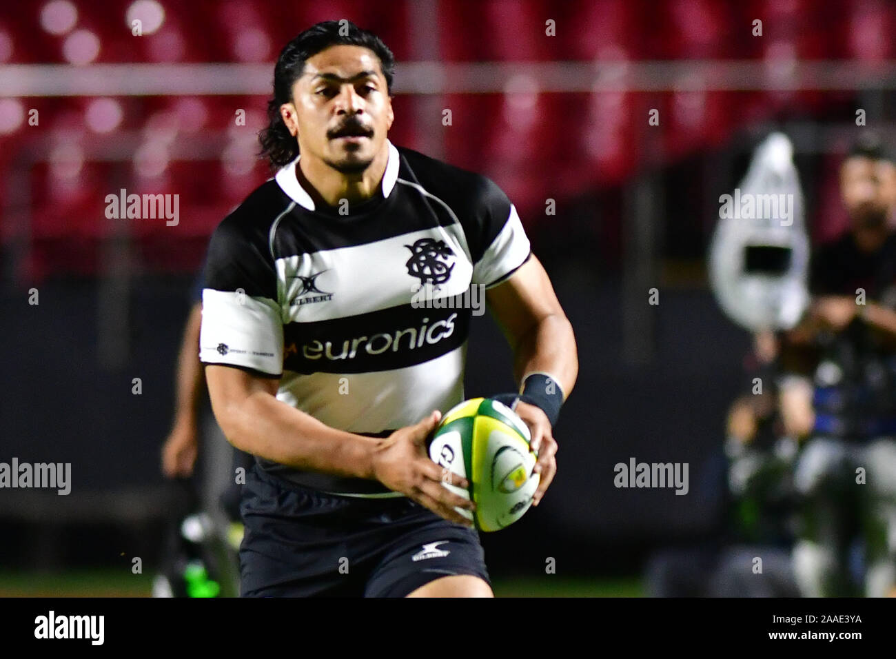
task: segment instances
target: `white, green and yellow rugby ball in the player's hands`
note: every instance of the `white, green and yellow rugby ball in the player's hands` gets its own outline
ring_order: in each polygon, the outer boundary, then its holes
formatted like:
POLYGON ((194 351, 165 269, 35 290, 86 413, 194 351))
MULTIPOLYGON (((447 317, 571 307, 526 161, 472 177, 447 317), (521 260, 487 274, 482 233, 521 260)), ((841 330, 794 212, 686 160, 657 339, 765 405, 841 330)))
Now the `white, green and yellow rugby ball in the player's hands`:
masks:
POLYGON ((447 412, 429 442, 429 457, 467 481, 448 490, 476 503, 455 508, 480 531, 498 531, 520 519, 532 504, 540 477, 530 449, 529 427, 504 403, 471 398, 447 412))

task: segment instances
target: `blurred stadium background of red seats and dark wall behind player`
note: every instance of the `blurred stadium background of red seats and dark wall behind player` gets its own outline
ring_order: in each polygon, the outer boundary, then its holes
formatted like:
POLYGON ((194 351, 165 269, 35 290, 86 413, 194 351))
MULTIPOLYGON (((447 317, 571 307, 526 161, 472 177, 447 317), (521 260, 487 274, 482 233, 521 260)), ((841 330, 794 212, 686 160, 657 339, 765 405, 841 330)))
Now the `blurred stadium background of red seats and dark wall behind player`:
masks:
MULTIPOLYGON (((340 18, 398 60, 392 142, 504 189, 576 331, 556 481, 483 534, 495 593, 651 594, 658 551, 726 532, 752 337, 708 282, 719 195, 780 131, 812 243, 849 226, 857 110, 883 134, 896 119, 896 6, 30 0, 0 13, 0 461, 71 463, 72 491, 0 490, 0 594, 150 594, 190 291, 211 231, 271 177, 256 134, 280 48, 340 18), (108 219, 121 188, 179 195, 177 226, 108 219), (630 457, 689 464, 688 494, 616 488, 630 457)), ((467 393, 510 386, 482 316, 467 393)))

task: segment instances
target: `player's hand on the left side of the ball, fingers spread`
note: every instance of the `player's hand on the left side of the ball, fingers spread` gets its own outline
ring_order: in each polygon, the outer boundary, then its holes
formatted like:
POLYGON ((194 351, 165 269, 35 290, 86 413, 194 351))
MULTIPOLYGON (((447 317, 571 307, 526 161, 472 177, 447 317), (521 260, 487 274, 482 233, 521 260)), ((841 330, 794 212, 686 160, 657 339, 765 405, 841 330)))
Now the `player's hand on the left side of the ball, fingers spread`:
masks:
POLYGON ((436 515, 472 527, 472 522, 454 507, 473 510, 476 505, 442 485, 444 481, 466 488, 469 483, 435 464, 426 453, 426 438, 441 420, 442 412, 435 410, 423 421, 384 438, 374 453, 374 476, 390 490, 401 492, 436 515))

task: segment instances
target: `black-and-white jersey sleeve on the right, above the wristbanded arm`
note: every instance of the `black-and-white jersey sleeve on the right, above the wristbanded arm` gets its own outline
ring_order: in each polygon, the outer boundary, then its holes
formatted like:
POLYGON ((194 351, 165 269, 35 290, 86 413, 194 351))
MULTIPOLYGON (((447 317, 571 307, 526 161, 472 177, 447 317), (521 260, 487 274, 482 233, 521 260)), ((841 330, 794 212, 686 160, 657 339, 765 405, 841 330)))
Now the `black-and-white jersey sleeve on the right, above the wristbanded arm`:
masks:
POLYGON ((485 178, 473 257, 473 283, 491 288, 504 282, 531 256, 516 207, 504 190, 485 178))

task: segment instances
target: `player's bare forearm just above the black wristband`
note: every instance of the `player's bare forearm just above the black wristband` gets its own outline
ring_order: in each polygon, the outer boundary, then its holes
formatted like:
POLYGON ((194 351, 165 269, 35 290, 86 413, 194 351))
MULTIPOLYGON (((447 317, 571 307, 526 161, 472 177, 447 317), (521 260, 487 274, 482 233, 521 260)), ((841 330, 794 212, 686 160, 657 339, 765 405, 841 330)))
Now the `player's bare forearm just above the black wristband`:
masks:
POLYGON ((521 385, 524 375, 541 371, 556 378, 564 400, 579 374, 573 325, 560 314, 544 316, 514 346, 513 377, 521 385))

